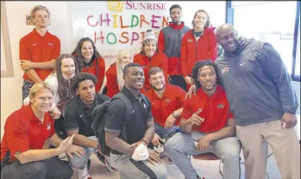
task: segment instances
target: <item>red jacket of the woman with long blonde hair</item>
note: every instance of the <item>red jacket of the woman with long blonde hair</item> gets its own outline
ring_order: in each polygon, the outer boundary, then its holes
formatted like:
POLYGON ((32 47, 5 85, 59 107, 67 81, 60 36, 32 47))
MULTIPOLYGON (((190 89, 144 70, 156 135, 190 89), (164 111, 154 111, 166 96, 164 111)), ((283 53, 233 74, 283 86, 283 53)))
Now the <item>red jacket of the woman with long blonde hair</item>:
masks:
POLYGON ((119 93, 116 63, 113 63, 110 68, 107 69, 105 76, 107 77, 107 93, 105 95, 112 98, 115 94, 119 93))

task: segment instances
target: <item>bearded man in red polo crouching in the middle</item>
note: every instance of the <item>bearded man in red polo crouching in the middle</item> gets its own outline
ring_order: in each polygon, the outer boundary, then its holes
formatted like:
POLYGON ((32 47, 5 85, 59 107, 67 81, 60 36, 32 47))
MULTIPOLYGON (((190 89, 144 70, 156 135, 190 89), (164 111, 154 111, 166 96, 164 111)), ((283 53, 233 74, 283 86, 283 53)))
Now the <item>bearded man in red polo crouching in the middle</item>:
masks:
POLYGON ((146 96, 151 101, 155 121, 155 136, 152 143, 159 145, 163 138, 167 140, 176 132, 186 92, 178 86, 165 84, 162 68, 151 68, 148 76, 152 89, 146 92, 146 96))

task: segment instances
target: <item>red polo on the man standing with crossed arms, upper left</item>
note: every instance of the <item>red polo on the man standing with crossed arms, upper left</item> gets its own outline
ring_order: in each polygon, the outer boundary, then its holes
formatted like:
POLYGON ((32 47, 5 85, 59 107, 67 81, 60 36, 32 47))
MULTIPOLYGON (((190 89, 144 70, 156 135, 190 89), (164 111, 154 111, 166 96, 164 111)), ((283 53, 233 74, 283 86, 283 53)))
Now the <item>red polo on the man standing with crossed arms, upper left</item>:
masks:
MULTIPOLYGON (((20 60, 33 61, 37 63, 57 59, 61 53, 61 42, 57 36, 50 34, 48 31, 41 36, 37 30, 33 30, 28 35, 20 39, 20 60)), ((43 70, 33 68, 41 80, 45 80, 52 73, 53 69, 43 70)), ((26 73, 23 75, 24 80, 31 80, 26 73)))

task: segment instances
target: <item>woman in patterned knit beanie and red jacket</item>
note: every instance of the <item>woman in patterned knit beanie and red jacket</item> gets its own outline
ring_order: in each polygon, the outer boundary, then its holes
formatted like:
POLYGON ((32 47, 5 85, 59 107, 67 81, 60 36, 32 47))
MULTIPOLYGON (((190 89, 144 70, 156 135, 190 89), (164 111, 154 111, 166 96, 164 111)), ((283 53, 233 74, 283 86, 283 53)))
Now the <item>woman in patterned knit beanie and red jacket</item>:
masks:
POLYGON ((160 67, 165 74, 167 80, 167 55, 158 50, 158 38, 152 30, 147 30, 143 36, 143 44, 141 52, 134 56, 134 63, 142 66, 145 76, 145 82, 141 92, 151 89, 151 84, 148 80, 148 71, 154 67, 160 67))

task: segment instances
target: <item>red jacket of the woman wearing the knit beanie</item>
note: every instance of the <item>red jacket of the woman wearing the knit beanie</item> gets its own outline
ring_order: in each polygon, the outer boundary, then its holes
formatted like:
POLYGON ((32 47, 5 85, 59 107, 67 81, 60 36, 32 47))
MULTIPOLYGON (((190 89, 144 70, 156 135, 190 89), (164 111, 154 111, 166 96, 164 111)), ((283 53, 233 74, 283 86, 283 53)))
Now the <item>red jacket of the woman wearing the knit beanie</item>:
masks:
POLYGON ((154 66, 163 69, 165 80, 167 80, 167 56, 162 51, 155 52, 152 57, 145 56, 142 52, 136 54, 136 56, 134 56, 134 63, 140 64, 143 68, 144 76, 146 78, 143 85, 144 90, 147 91, 151 89, 151 84, 148 81, 148 71, 154 66))

